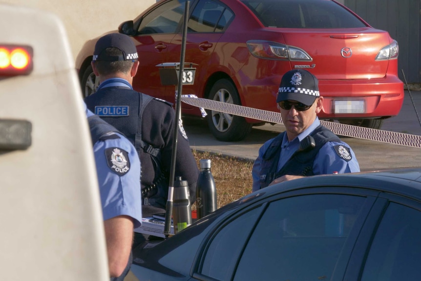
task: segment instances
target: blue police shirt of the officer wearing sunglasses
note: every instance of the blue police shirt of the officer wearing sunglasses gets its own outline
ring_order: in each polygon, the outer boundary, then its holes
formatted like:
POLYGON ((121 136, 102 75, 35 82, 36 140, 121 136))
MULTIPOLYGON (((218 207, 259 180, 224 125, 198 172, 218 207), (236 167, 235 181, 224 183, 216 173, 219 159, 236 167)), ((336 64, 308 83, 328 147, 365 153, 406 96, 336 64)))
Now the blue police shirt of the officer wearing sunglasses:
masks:
MULTIPOLYGON (((279 157, 279 162, 277 169, 278 171, 285 165, 285 163, 291 158, 295 151, 298 150, 299 143, 306 136, 308 136, 312 131, 314 131, 320 125, 320 120, 316 117, 316 120, 310 125, 309 128, 301 132, 297 137, 292 141, 288 141, 287 134, 284 135, 281 144, 281 155, 279 157)), ((253 191, 260 189, 259 174, 260 166, 263 161, 262 157, 265 151, 269 148, 274 139, 270 139, 263 144, 259 149, 259 155, 254 161, 252 169, 253 177, 253 191)), ((313 173, 314 174, 331 174, 331 173, 357 173, 359 172, 359 164, 355 156, 354 151, 349 147, 345 142, 327 142, 324 144, 320 151, 317 152, 314 163, 313 163, 313 173), (336 152, 335 146, 344 146, 349 149, 352 159, 346 161, 342 159, 336 152)))

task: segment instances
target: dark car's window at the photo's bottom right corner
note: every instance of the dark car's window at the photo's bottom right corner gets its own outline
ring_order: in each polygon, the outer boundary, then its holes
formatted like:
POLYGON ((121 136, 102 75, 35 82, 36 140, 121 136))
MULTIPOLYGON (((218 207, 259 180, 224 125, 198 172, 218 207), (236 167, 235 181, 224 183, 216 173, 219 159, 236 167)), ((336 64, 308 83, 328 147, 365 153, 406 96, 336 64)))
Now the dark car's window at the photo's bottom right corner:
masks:
POLYGON ((376 232, 361 281, 420 280, 421 212, 391 203, 376 232))

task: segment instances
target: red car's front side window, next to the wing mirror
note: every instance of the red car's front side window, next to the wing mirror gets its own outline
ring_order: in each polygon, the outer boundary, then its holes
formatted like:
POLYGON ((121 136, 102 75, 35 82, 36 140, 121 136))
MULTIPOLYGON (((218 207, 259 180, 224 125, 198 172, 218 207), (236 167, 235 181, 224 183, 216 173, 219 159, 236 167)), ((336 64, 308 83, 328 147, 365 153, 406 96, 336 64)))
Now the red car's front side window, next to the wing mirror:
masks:
POLYGON ((183 18, 185 0, 169 1, 147 14, 138 28, 138 35, 175 33, 183 18))

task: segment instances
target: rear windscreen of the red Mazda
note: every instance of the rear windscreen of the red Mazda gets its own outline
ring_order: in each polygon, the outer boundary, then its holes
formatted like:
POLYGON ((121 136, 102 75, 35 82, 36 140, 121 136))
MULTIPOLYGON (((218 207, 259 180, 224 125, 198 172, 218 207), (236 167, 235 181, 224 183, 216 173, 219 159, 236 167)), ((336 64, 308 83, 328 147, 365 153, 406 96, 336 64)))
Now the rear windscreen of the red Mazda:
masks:
POLYGON ((330 0, 242 0, 266 27, 365 27, 354 14, 330 0))

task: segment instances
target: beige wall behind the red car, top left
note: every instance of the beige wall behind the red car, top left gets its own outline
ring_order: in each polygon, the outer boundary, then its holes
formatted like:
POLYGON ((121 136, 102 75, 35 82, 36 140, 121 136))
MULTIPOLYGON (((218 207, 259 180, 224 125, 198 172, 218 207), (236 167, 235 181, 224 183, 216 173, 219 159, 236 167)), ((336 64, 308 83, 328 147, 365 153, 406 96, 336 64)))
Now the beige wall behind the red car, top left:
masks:
POLYGON ((76 58, 86 40, 115 30, 121 22, 133 20, 156 0, 0 0, 34 7, 61 18, 76 58))

